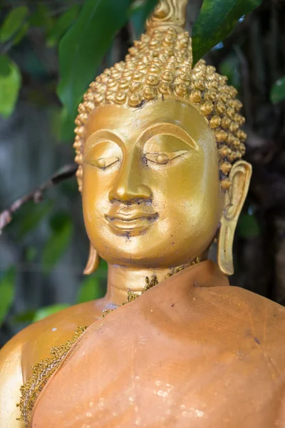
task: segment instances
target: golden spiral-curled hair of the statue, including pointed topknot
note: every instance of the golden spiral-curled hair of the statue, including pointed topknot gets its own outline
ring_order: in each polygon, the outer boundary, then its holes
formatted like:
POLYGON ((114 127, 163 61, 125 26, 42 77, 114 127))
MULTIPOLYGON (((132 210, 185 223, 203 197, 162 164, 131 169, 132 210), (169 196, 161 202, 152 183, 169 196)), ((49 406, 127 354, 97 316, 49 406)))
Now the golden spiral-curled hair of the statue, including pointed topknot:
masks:
POLYGON ((200 60, 192 68, 190 35, 184 30, 186 0, 161 1, 147 21, 147 31, 129 49, 125 61, 105 69, 90 83, 78 106, 76 118, 76 162, 79 190, 82 191, 84 129, 96 107, 118 104, 138 108, 143 102, 180 99, 195 106, 207 118, 219 153, 221 185, 227 190, 232 163, 245 153, 247 135, 237 90, 227 86, 227 77, 200 60))

